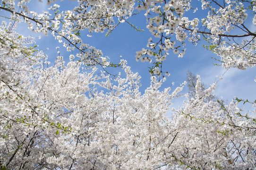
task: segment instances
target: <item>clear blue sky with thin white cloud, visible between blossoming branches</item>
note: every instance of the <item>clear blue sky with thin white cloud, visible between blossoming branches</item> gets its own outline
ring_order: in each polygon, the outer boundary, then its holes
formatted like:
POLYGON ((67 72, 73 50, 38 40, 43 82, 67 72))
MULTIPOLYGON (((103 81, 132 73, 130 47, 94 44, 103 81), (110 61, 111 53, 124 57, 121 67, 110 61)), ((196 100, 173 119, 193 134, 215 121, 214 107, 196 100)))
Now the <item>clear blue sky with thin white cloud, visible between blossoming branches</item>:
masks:
MULTIPOLYGON (((60 0, 57 2, 60 2, 60 0)), ((76 2, 65 1, 65 3, 61 2, 60 6, 63 8, 72 9, 76 2), (68 3, 68 5, 65 3, 68 3)), ((196 3, 200 4, 200 2, 196 3)), ((43 0, 43 3, 38 2, 38 0, 33 0, 31 8, 40 13, 41 11, 49 8, 49 6, 46 5, 46 0, 43 0)), ((201 5, 198 8, 201 8, 201 5)), ((1 11, 1 13, 2 12, 3 11, 1 11)), ((136 32, 127 23, 123 23, 120 24, 108 37, 105 37, 106 33, 93 34, 92 37, 87 37, 87 32, 83 32, 82 34, 82 38, 85 43, 102 50, 103 55, 108 56, 114 63, 119 62, 120 56, 122 56, 122 59, 126 59, 128 61, 128 65, 131 67, 131 70, 133 72, 138 72, 139 75, 142 76, 142 92, 146 87, 150 85, 150 74, 147 68, 150 65, 146 62, 137 62, 135 55, 136 51, 146 47, 148 38, 153 36, 147 30, 147 28, 145 28, 146 18, 144 16, 144 12, 145 11, 140 11, 140 14, 128 19, 128 21, 135 26, 144 29, 144 32, 136 32)), ((204 13, 205 11, 203 11, 203 13, 198 13, 197 17, 202 17, 204 13)), ((193 13, 189 13, 189 15, 192 14, 193 13)), ((249 18, 251 17, 253 16, 249 16, 249 18)), ((21 24, 18 28, 18 32, 25 35, 33 35, 34 37, 39 36, 38 34, 32 34, 28 29, 26 30, 26 27, 26 24, 21 24)), ((251 28, 252 30, 256 30, 255 26, 252 24, 251 28)), ((61 47, 62 44, 57 40, 54 40, 50 34, 48 36, 41 36, 42 39, 36 39, 37 44, 39 44, 39 49, 45 51, 49 56, 49 59, 56 59, 58 54, 55 47, 61 47), (46 50, 47 48, 49 48, 49 50, 46 50)), ((164 87, 171 86, 172 82, 175 82, 175 85, 172 88, 172 90, 174 90, 176 86, 178 86, 180 83, 183 83, 183 81, 186 80, 187 69, 190 70, 193 74, 199 74, 201 76, 202 82, 206 85, 212 84, 215 80, 218 80, 216 79, 216 76, 222 76, 222 74, 225 73, 223 75, 223 80, 219 81, 217 84, 217 89, 215 91, 216 95, 223 96, 225 100, 229 101, 234 96, 254 101, 256 99, 256 82, 254 82, 256 76, 256 68, 248 68, 247 70, 230 69, 229 71, 226 71, 222 67, 213 66, 213 63, 216 63, 217 61, 211 59, 211 57, 217 58, 217 56, 214 55, 211 51, 204 49, 202 47, 203 43, 205 42, 199 42, 197 46, 193 46, 188 42, 186 44, 186 54, 183 58, 178 58, 178 55, 175 55, 171 51, 169 52, 170 55, 163 63, 163 70, 168 71, 171 75, 167 77, 167 81, 162 85, 162 89, 164 87)), ((62 49, 60 53, 60 55, 64 56, 64 58, 67 58, 67 61, 69 54, 70 53, 66 52, 65 49, 62 49)), ((121 71, 120 68, 117 69, 121 71)), ((183 93, 185 92, 186 90, 183 91, 183 93)), ((178 105, 182 105, 182 101, 183 99, 174 101, 174 106, 177 107, 178 105)))

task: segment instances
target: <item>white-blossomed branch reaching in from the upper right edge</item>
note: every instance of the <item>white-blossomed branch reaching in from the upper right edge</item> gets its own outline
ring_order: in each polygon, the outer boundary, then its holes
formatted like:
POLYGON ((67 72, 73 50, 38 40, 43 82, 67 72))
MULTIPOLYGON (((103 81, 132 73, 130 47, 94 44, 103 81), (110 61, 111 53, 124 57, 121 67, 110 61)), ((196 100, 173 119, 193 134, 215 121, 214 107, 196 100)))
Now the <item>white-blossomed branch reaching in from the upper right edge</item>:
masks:
POLYGON ((247 21, 247 16, 248 14, 254 15, 253 18, 255 18, 256 1, 226 0, 220 3, 202 0, 202 9, 209 9, 209 12, 207 17, 201 19, 201 23, 197 18, 189 20, 188 17, 183 17, 181 19, 176 29, 177 40, 184 42, 189 32, 188 41, 196 44, 201 34, 209 43, 205 47, 221 57, 218 60, 222 62, 224 68, 254 67, 256 64, 256 33, 253 28, 250 30, 251 22, 247 21), (232 30, 240 34, 231 34, 232 30), (242 41, 241 38, 243 38, 242 41))

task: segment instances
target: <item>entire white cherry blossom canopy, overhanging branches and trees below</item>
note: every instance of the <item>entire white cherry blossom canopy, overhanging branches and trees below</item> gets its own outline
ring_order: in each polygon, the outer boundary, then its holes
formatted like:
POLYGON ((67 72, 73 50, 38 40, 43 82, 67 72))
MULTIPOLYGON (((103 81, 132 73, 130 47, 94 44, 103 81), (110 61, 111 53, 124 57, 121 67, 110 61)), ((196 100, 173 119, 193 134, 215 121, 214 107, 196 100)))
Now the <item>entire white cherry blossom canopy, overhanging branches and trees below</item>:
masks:
POLYGON ((174 109, 186 82, 160 90, 165 77, 156 80, 168 51, 182 57, 187 41, 205 41, 224 68, 254 67, 255 0, 201 0, 207 15, 200 19, 185 17, 199 10, 191 0, 78 0, 67 10, 52 1, 40 14, 30 10, 30 0, 0 1, 0 17, 9 21, 0 26, 1 169, 256 168, 256 111, 238 108, 249 101, 213 99, 216 83, 202 88, 197 76, 193 95, 174 109), (83 30, 110 34, 137 10, 145 11, 154 35, 136 55, 153 63, 144 93, 126 60, 112 63, 81 36, 83 30), (32 45, 34 37, 17 33, 22 22, 63 43, 68 62, 58 56, 50 63, 32 45), (123 71, 112 76, 108 67, 123 71))

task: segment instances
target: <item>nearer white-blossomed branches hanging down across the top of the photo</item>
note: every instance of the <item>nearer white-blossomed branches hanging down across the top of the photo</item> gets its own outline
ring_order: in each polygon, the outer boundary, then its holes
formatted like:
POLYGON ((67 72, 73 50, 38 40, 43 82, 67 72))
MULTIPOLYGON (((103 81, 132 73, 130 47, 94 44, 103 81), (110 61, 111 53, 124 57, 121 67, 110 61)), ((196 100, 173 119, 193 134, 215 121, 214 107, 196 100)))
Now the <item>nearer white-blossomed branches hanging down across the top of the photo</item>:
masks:
MULTIPOLYGON (((21 13, 16 11, 14 0, 4 0, 5 8, 13 12, 12 17, 24 18, 29 28, 38 33, 48 34, 49 32, 55 36, 59 42, 63 42, 63 46, 67 51, 77 51, 77 58, 81 58, 88 66, 102 65, 110 66, 106 57, 102 56, 102 52, 94 47, 84 46, 80 37, 80 32, 87 29, 92 32, 111 32, 119 23, 127 21, 128 17, 133 15, 134 9, 145 10, 147 19, 147 28, 154 35, 154 40, 148 40, 147 48, 137 51, 137 60, 149 61, 153 63, 153 69, 161 68, 162 61, 170 55, 168 51, 173 50, 178 57, 183 57, 185 50, 179 43, 185 45, 185 41, 194 43, 195 45, 201 36, 210 43, 209 50, 220 55, 221 60, 228 64, 232 60, 240 59, 244 62, 244 66, 254 66, 255 62, 251 61, 254 55, 247 55, 250 49, 255 53, 255 36, 254 30, 249 30, 250 22, 246 21, 249 12, 254 15, 252 23, 255 25, 256 1, 251 2, 239 0, 226 0, 222 3, 213 0, 202 0, 202 9, 209 10, 208 15, 202 18, 184 17, 187 11, 198 9, 191 7, 190 0, 79 0, 78 6, 73 10, 60 11, 60 5, 53 4, 49 11, 37 14, 30 11, 27 4, 30 0, 20 0, 17 3, 19 8, 24 9, 21 13), (15 13, 16 12, 16 13, 15 13), (115 22, 118 21, 118 24, 115 22), (244 34, 231 34, 232 30, 239 30, 244 34), (200 36, 201 35, 201 36, 200 36), (246 43, 240 43, 237 38, 250 37, 246 43), (230 40, 234 43, 230 43, 230 40), (89 48, 90 47, 90 48, 89 48), (222 53, 219 49, 234 48, 234 51, 241 51, 243 55, 236 52, 229 54, 222 53), (248 59, 249 58, 249 59, 248 59), (153 61, 153 62, 152 62, 153 61)), ((48 0, 51 4, 54 0, 48 0)), ((251 15, 251 14, 250 14, 251 15)), ((91 35, 90 35, 91 36, 91 35)), ((233 66, 232 66, 233 67, 233 66)), ((237 67, 237 66, 235 66, 237 67)), ((225 66, 227 68, 227 66, 225 66)), ((239 67, 238 67, 239 68, 239 67)))

